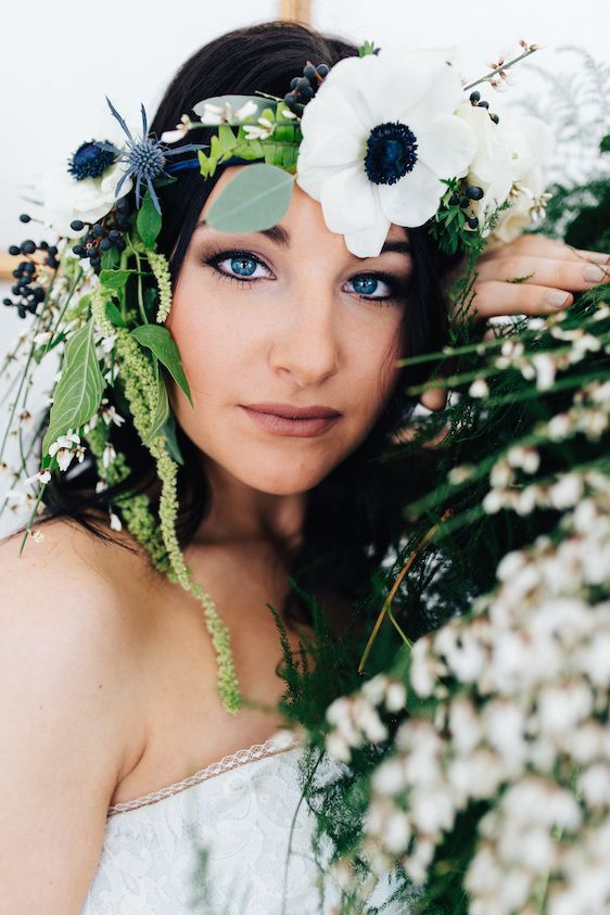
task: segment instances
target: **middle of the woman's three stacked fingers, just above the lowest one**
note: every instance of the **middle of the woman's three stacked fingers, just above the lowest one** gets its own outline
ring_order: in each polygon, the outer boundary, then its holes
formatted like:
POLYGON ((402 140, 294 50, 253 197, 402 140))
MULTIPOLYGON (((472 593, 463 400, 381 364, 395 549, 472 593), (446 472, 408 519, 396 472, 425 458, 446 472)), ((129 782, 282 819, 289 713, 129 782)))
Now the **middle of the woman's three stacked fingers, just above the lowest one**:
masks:
POLYGON ((517 256, 496 257, 478 268, 476 283, 500 280, 508 283, 532 283, 552 289, 582 292, 600 282, 610 282, 610 265, 592 264, 585 259, 517 256))

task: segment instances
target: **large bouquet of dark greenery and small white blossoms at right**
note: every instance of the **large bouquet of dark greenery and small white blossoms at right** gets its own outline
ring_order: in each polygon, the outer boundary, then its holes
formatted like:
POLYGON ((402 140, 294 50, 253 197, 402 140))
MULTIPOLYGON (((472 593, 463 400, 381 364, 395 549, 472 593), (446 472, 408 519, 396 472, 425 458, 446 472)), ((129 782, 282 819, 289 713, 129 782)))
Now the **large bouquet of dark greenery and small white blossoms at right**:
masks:
MULTIPOLYGON (((610 182, 555 191, 542 230, 568 212, 567 243, 607 250, 610 182)), ((332 840, 341 913, 377 911, 387 872, 427 915, 610 906, 607 295, 421 357, 441 377, 411 393, 452 395, 387 458, 427 493, 397 494, 412 533, 365 608, 382 603, 359 665, 374 675, 358 685, 353 632, 333 639, 321 613, 308 648, 323 674, 287 650, 285 711, 307 728, 304 797, 332 840), (322 785, 321 750, 336 761, 322 785)))

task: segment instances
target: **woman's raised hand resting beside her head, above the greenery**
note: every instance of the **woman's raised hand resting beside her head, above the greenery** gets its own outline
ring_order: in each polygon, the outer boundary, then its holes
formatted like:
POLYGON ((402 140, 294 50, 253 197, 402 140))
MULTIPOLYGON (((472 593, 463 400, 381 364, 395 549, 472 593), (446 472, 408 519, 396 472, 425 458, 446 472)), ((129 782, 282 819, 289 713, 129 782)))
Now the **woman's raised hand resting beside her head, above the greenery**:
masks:
MULTIPOLYGON (((552 315, 569 307, 573 293, 610 282, 610 255, 581 251, 543 236, 524 234, 481 255, 471 307, 474 319, 503 315, 552 315)), ((448 278, 449 285, 459 277, 448 278)), ((471 314, 471 313, 470 313, 471 314)), ((442 409, 447 391, 434 387, 421 397, 422 406, 442 409)))

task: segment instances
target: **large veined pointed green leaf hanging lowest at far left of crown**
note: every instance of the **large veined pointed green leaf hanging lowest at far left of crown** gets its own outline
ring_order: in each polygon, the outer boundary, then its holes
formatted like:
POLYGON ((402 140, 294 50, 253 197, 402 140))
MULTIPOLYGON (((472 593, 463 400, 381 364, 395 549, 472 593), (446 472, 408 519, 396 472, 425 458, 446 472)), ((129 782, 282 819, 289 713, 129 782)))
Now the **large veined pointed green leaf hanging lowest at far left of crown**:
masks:
POLYGON ((100 406, 104 379, 100 371, 93 344, 93 321, 89 320, 74 333, 64 353, 62 377, 49 417, 49 428, 42 442, 42 454, 68 429, 77 430, 91 419, 100 406))

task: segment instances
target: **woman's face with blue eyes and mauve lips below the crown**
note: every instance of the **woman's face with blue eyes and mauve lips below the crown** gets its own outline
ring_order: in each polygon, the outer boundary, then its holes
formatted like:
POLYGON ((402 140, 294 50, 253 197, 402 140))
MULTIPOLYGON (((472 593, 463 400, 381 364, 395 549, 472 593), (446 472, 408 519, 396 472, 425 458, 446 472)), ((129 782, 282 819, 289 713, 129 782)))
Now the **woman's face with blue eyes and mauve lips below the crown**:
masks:
MULTIPOLYGON (((202 220, 247 167, 225 168, 202 220)), ((198 226, 167 327, 194 408, 175 384, 171 404, 206 459, 255 490, 290 495, 315 486, 366 437, 398 378, 411 270, 405 230, 391 226, 389 242, 402 250, 354 256, 296 185, 269 234, 198 226), (269 403, 340 416, 282 421, 249 409, 269 403)))

